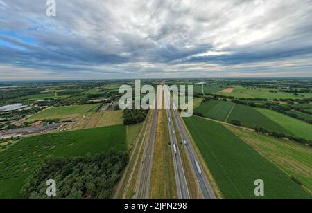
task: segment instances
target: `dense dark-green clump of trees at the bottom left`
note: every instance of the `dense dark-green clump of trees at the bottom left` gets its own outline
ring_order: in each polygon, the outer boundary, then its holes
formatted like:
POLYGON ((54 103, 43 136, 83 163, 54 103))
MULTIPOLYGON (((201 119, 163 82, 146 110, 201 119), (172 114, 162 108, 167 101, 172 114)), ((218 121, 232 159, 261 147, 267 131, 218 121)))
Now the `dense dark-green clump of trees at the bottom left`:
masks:
POLYGON ((33 172, 21 189, 25 199, 109 199, 128 163, 125 151, 77 158, 50 158, 33 172), (46 196, 46 180, 56 183, 56 196, 46 196))

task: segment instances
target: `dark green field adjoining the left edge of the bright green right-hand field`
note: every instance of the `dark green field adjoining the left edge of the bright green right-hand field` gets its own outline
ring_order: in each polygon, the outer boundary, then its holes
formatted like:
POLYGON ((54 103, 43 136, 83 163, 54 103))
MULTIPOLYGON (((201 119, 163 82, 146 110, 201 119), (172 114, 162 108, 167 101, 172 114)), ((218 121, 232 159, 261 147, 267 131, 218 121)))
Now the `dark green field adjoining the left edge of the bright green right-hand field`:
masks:
POLYGON ((260 113, 253 107, 241 104, 235 104, 235 107, 229 115, 229 119, 227 121, 230 122, 231 120, 239 120, 243 126, 250 127, 252 129, 259 126, 278 133, 290 133, 287 129, 266 117, 265 113, 260 113))

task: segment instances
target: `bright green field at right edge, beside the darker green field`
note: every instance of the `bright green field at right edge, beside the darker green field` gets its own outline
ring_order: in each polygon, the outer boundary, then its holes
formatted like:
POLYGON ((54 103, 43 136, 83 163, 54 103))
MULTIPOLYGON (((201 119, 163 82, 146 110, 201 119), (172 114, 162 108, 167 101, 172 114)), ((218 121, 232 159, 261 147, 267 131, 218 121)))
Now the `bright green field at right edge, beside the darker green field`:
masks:
POLYGON ((270 118, 270 120, 279 124, 281 127, 284 127, 292 136, 312 140, 311 124, 268 109, 257 109, 257 111, 266 115, 266 117, 270 118))

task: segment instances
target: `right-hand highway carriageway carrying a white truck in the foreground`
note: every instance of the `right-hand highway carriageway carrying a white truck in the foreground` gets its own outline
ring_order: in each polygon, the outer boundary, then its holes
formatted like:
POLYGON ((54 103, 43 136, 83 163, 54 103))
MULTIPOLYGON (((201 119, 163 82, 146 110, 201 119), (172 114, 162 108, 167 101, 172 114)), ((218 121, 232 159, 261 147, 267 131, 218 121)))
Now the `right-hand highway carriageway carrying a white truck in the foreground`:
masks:
MULTIPOLYGON (((171 98, 170 93, 167 91, 168 96, 171 98)), ((166 96, 166 95, 165 95, 166 96)), ((173 103, 175 104, 175 103, 173 103)), ((196 180, 198 182, 198 187, 200 188, 200 192, 202 194, 202 198, 204 199, 216 199, 216 196, 214 195, 214 190, 211 187, 211 184, 209 183, 209 180, 205 174, 205 172, 199 172, 198 167, 196 165, 196 162, 200 166, 200 161, 198 160, 198 156, 196 155, 196 152, 193 148, 193 144, 191 140, 189 139, 187 130, 184 127, 184 124, 182 123, 182 118, 180 118, 180 114, 177 110, 173 111, 173 117, 175 119, 175 122, 177 122, 177 128, 180 131, 182 140, 184 142, 184 146, 187 150, 187 156, 189 158, 189 163, 191 165, 191 168, 193 170, 193 173, 196 176, 196 180)), ((202 167, 200 166, 200 169, 202 170, 202 167)))

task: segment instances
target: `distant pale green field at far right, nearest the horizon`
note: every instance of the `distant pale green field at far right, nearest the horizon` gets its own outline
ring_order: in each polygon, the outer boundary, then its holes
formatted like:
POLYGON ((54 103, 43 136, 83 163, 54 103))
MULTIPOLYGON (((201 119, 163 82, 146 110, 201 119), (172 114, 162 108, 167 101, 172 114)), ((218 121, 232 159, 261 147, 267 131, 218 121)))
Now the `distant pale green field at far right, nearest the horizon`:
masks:
POLYGON ((243 86, 235 86, 234 91, 232 93, 223 93, 218 92, 218 95, 228 95, 233 96, 235 98, 268 98, 268 99, 280 99, 280 98, 293 98, 293 99, 302 99, 302 98, 311 98, 312 93, 300 93, 302 96, 295 96, 294 93, 284 93, 284 92, 277 92, 277 93, 271 93, 270 90, 272 89, 263 89, 263 88, 257 88, 257 89, 246 89, 243 88, 243 86))

